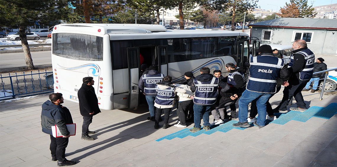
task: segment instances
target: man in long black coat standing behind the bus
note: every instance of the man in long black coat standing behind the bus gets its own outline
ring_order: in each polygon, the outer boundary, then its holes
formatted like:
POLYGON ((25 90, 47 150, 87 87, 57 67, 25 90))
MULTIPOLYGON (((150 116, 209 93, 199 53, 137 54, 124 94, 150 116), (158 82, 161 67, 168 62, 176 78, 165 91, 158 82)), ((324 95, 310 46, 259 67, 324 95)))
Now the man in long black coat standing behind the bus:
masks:
POLYGON ((95 94, 93 77, 84 77, 83 84, 77 93, 80 104, 80 112, 83 116, 82 125, 82 140, 95 140, 89 134, 95 134, 95 131, 89 131, 89 125, 92 122, 92 117, 101 111, 98 108, 98 100, 95 94))

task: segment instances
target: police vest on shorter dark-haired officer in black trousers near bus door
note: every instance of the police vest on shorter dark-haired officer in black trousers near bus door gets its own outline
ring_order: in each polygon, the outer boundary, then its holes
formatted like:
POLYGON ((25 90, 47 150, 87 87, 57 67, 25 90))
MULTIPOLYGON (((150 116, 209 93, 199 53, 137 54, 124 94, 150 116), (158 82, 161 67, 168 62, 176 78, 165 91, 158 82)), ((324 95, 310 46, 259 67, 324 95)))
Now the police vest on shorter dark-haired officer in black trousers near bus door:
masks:
POLYGON ((157 97, 156 100, 154 101, 155 103, 159 104, 159 105, 173 105, 173 101, 175 99, 175 93, 174 90, 177 87, 174 86, 173 88, 168 87, 164 90, 159 89, 158 86, 156 86, 156 90, 157 90, 157 97))

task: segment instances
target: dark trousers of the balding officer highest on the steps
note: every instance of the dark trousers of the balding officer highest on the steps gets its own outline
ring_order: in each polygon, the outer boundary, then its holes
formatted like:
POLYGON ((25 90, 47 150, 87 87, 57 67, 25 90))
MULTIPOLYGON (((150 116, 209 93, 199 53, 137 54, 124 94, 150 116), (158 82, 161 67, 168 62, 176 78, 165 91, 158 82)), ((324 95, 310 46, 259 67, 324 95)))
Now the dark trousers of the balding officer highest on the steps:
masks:
POLYGON ((297 85, 292 85, 292 83, 289 81, 290 85, 287 87, 284 87, 283 98, 282 98, 281 103, 278 105, 279 110, 281 111, 287 110, 287 106, 290 100, 292 99, 292 97, 295 98, 297 107, 306 109, 307 107, 304 103, 304 99, 303 99, 301 91, 303 90, 303 88, 305 87, 308 81, 309 79, 308 80, 296 80, 297 85))

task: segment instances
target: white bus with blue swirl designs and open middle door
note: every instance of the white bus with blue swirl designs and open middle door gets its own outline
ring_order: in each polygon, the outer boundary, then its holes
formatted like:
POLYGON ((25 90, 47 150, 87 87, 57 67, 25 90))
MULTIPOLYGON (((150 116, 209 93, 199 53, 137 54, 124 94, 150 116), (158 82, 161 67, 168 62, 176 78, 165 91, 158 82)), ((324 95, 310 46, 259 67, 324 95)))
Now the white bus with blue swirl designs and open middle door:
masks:
POLYGON ((52 33, 54 91, 78 101, 82 78, 95 81, 99 108, 136 108, 141 99, 138 80, 142 64, 182 80, 201 67, 226 72, 248 57, 248 34, 212 30, 172 30, 149 24, 59 24, 52 33), (140 62, 140 54, 144 58, 140 62))

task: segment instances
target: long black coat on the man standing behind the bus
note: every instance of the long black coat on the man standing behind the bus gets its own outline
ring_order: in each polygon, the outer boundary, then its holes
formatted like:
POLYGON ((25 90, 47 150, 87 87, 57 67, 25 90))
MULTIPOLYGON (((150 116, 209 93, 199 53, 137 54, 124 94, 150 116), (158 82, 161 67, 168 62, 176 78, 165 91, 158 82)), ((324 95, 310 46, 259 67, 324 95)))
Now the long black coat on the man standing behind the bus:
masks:
POLYGON ((92 86, 82 83, 82 87, 77 92, 80 104, 80 112, 82 116, 94 116, 101 112, 98 108, 98 100, 95 89, 92 86), (89 114, 94 112, 94 114, 89 114))

